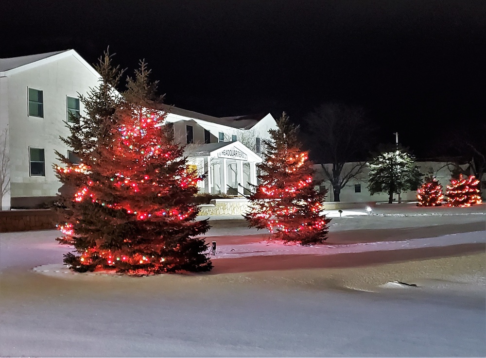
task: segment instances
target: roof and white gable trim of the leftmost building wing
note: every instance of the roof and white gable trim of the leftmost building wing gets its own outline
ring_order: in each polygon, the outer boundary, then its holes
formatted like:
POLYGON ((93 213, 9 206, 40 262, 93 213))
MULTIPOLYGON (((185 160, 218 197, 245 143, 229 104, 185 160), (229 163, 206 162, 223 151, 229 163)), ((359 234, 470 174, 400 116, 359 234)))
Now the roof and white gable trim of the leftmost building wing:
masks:
POLYGON ((28 56, 0 58, 0 73, 3 75, 6 73, 13 74, 23 71, 25 69, 33 68, 35 66, 50 63, 52 61, 59 60, 68 56, 74 56, 81 64, 83 64, 94 75, 100 76, 100 74, 94 69, 86 60, 81 57, 79 53, 74 50, 53 51, 46 53, 37 53, 28 56))

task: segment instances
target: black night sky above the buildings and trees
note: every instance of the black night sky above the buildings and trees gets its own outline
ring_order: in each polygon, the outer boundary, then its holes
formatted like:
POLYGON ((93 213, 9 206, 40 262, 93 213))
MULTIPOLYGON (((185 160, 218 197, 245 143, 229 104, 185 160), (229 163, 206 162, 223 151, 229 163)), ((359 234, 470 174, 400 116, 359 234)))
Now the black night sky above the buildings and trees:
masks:
POLYGON ((153 68, 166 102, 214 116, 363 106, 380 142, 486 120, 486 1, 5 0, 0 57, 73 48, 153 68), (453 124, 455 125, 455 124, 453 124), (420 129, 419 127, 423 127, 420 129))

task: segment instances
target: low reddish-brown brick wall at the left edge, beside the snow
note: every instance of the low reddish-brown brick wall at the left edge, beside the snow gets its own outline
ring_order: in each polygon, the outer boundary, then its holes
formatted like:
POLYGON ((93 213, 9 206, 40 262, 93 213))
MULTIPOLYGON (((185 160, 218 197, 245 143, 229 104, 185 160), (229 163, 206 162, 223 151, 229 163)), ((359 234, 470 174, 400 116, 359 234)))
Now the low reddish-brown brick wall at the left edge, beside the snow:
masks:
POLYGON ((54 229, 55 217, 51 209, 0 211, 0 232, 54 229))

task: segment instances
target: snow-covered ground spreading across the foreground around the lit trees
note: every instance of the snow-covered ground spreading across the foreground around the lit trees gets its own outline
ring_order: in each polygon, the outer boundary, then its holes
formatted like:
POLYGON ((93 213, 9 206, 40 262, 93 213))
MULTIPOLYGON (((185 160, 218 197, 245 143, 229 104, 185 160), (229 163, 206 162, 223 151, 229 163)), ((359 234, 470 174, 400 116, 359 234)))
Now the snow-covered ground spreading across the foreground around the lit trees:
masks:
POLYGON ((62 273, 55 231, 1 234, 0 356, 485 357, 485 205, 348 211, 312 247, 213 218, 204 274, 62 273))

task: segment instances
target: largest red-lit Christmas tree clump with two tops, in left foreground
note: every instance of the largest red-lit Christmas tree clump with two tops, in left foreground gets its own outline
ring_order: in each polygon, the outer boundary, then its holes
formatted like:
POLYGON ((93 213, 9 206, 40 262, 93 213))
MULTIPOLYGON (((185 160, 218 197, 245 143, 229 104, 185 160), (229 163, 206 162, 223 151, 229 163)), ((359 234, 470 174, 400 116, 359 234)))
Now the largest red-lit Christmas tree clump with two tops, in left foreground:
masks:
POLYGON ((66 166, 55 166, 56 175, 71 189, 57 203, 64 234, 57 240, 78 254, 64 262, 78 272, 209 271, 208 246, 195 238, 209 225, 195 221, 199 210, 191 204, 201 178, 162 125, 166 113, 154 109, 162 99, 150 71, 142 62, 119 94, 121 72, 110 56, 97 70, 100 85, 81 98, 87 115, 73 117, 63 139, 81 164, 57 153, 66 166))

